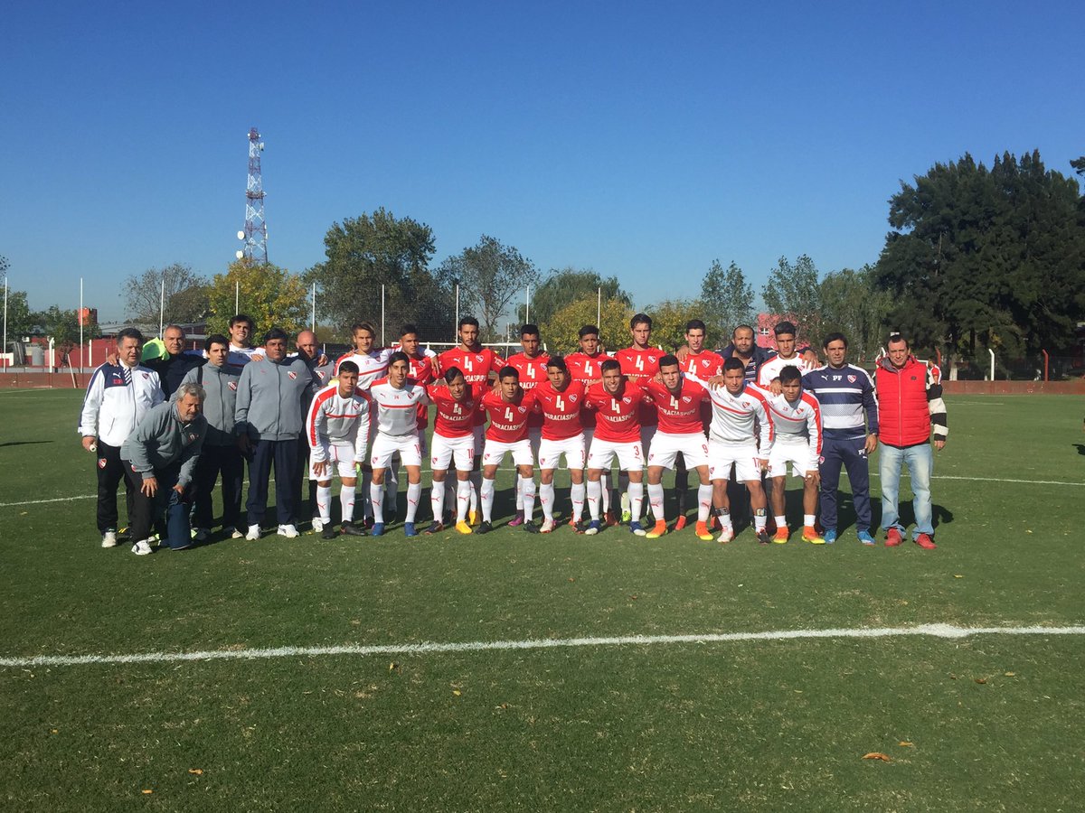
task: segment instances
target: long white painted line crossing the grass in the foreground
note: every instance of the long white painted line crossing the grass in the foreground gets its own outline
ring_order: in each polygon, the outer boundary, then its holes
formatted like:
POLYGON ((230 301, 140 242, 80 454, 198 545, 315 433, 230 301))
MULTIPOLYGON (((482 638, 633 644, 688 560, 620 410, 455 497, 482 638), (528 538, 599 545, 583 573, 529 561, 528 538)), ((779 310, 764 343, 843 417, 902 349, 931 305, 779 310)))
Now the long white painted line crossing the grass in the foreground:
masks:
POLYGON ((716 644, 744 641, 793 641, 796 638, 885 638, 931 636, 962 638, 969 635, 1085 635, 1085 627, 881 627, 872 629, 773 630, 766 632, 722 632, 702 635, 620 635, 614 637, 528 638, 525 641, 468 641, 462 643, 378 644, 365 646, 278 646, 267 649, 208 649, 193 653, 136 653, 132 655, 37 655, 0 658, 0 667, 75 667, 97 663, 174 663, 191 660, 257 660, 267 658, 311 658, 352 655, 433 655, 511 649, 559 649, 571 647, 659 646, 668 644, 716 644))

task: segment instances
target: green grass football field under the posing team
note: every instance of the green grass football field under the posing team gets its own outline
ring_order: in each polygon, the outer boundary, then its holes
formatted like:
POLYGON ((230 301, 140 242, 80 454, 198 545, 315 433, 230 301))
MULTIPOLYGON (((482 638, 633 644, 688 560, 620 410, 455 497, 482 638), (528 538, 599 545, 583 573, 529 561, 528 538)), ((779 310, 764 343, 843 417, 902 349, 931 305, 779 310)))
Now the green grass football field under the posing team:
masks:
POLYGON ((947 399, 933 552, 867 549, 854 528, 762 547, 749 529, 719 545, 692 529, 408 540, 396 525, 136 557, 99 546, 80 397, 0 392, 0 657, 17 661, 0 666, 5 810, 1085 805, 1081 634, 26 660, 1078 627, 1076 399, 947 399))

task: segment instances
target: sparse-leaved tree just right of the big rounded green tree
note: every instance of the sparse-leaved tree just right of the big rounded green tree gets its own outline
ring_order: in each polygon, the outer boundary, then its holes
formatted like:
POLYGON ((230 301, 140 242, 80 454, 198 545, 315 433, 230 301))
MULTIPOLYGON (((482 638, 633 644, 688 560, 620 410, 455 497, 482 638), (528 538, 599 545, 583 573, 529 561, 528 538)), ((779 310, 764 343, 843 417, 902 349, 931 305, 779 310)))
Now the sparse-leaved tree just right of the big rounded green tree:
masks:
POLYGON ((482 322, 483 335, 490 338, 497 335, 509 306, 539 281, 539 271, 529 259, 486 234, 446 259, 438 273, 443 280, 459 281, 460 311, 473 312, 482 322))

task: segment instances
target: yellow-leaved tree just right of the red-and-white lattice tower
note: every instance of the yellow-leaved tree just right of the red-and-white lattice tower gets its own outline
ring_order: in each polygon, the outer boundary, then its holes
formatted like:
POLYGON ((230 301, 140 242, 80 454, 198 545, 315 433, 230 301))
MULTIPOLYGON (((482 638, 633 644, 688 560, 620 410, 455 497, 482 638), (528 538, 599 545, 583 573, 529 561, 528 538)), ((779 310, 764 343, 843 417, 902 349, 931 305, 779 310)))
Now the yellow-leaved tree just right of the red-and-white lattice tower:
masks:
POLYGON ((286 269, 242 257, 215 274, 208 293, 207 330, 226 333, 230 318, 244 313, 256 322, 255 340, 271 327, 295 333, 309 323, 309 298, 301 278, 286 269), (237 287, 240 285, 240 288, 237 287), (238 306, 234 307, 235 293, 238 306))

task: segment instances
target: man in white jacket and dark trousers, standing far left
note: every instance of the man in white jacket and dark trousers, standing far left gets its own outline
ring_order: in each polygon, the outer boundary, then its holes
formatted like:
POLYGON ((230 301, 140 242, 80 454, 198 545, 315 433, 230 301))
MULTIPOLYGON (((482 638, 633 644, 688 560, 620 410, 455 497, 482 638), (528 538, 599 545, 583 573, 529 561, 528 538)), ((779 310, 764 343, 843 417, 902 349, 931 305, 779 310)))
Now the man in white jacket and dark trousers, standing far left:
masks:
MULTIPOLYGON (((79 413, 82 448, 97 456, 102 547, 117 545, 117 486, 125 480, 120 447, 143 415, 164 399, 158 374, 139 363, 142 347, 143 334, 135 327, 117 334, 117 363, 106 362, 94 371, 79 413)), ((125 490, 131 517, 133 493, 127 480, 125 490)))

